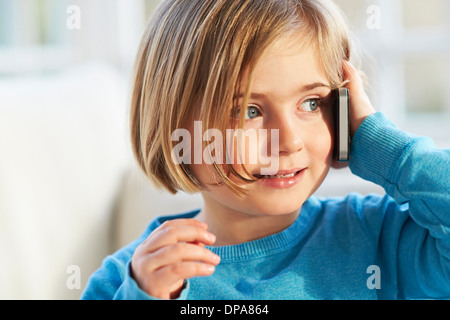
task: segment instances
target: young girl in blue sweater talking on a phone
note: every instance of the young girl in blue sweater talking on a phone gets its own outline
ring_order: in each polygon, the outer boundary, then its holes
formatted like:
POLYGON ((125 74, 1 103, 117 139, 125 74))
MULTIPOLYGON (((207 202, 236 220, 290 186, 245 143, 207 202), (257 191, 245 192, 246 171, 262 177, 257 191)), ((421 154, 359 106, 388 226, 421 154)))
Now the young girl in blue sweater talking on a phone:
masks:
POLYGON ((450 298, 449 150, 376 113, 350 56, 330 1, 164 1, 138 54, 133 150, 156 185, 201 192, 204 206, 153 221, 82 298, 450 298), (350 169, 384 197, 313 196, 339 166, 331 92, 344 86, 350 169), (189 135, 175 148, 174 132, 195 136, 196 123, 222 133, 206 135, 201 159, 189 135), (256 140, 228 139, 239 128, 256 140), (272 172, 241 157, 264 143, 272 172))

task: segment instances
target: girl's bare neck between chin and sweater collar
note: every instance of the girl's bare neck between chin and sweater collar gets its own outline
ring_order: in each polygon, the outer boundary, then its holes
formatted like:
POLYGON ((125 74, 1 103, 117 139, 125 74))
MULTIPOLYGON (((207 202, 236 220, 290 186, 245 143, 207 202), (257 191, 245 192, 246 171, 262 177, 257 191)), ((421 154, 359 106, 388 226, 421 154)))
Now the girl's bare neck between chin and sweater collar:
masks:
POLYGON ((197 220, 208 225, 208 231, 217 240, 214 246, 226 246, 244 243, 270 236, 288 228, 300 214, 293 213, 277 216, 256 215, 232 210, 225 206, 212 206, 207 199, 197 220))

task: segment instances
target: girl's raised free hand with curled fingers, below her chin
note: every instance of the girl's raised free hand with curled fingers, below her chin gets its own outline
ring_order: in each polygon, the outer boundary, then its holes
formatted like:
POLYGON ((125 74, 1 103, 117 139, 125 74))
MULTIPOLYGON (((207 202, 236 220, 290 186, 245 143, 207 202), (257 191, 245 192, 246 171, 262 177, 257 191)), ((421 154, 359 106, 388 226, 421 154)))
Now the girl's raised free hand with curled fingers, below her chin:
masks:
POLYGON ((216 237, 194 219, 166 221, 140 244, 131 260, 131 274, 139 287, 159 299, 177 298, 185 279, 209 276, 219 256, 204 248, 216 237))

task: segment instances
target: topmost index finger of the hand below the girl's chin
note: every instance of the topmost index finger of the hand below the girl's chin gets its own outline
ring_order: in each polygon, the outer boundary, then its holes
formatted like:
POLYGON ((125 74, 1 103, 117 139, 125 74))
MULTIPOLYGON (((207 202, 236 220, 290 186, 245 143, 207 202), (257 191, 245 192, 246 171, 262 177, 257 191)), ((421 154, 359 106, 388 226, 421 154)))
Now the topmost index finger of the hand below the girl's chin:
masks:
POLYGON ((161 247, 178 242, 200 242, 205 245, 212 245, 216 241, 214 234, 204 228, 191 225, 168 224, 164 228, 155 230, 140 245, 139 250, 153 252, 161 247))

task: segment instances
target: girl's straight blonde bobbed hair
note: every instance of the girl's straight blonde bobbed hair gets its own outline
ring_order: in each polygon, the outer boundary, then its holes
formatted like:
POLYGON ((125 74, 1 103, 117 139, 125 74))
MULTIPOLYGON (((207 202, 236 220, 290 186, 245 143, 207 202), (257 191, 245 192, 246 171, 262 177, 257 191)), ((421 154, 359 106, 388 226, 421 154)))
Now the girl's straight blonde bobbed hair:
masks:
MULTIPOLYGON (((135 158, 157 186, 171 193, 202 189, 188 164, 172 161, 172 132, 186 127, 193 114, 199 115, 204 130, 225 132, 233 97, 245 81, 243 74, 251 78, 264 50, 287 34, 298 34, 314 46, 332 88, 342 84, 342 61, 350 59, 350 37, 331 1, 166 0, 160 4, 137 55, 130 123, 135 158)), ((247 83, 244 92, 248 93, 247 83)), ((242 122, 243 116, 241 126, 242 122)), ((230 179, 230 172, 252 181, 230 165, 229 173, 220 165, 214 169, 237 193, 242 189, 230 179)))

